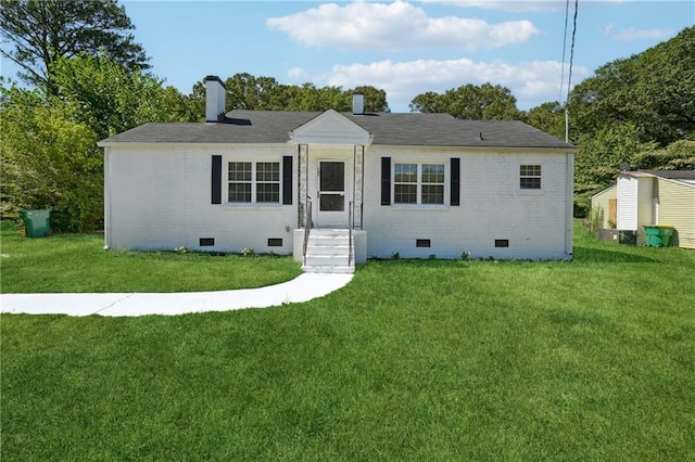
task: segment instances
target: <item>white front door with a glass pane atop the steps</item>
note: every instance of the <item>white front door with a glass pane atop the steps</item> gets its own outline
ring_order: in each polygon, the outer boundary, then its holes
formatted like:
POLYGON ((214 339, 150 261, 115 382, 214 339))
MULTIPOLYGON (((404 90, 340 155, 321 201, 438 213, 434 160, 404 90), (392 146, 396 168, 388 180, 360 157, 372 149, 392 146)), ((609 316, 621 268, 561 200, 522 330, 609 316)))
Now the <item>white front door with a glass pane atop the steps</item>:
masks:
POLYGON ((348 227, 345 162, 318 162, 318 227, 348 227))

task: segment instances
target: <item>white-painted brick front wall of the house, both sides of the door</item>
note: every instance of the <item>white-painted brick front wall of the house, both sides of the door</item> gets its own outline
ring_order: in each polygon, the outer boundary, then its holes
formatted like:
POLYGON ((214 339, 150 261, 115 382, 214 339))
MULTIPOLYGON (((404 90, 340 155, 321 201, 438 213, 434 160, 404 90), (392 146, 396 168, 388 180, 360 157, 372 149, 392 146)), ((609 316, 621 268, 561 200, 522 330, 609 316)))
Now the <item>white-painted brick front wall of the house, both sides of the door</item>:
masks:
MULTIPOLYGON (((352 152, 352 147, 349 151, 352 152)), ((309 153, 311 159, 321 157, 317 146, 311 146, 309 153)), ((252 247, 255 252, 290 254, 292 230, 298 221, 296 163, 296 146, 289 144, 110 147, 106 150, 106 245, 134 249, 174 249, 185 245, 190 249, 217 252, 252 247), (281 163, 282 156, 292 155, 293 204, 211 204, 211 163, 215 154, 223 155, 223 203, 230 159, 281 163), (201 238, 213 238, 215 245, 200 247, 201 238), (268 247, 268 238, 282 239, 282 246, 268 247)), ((463 252, 469 252, 471 258, 567 258, 567 217, 572 202, 567 194, 566 166, 567 156, 560 153, 439 149, 424 154, 418 149, 368 146, 364 168, 366 256, 389 257, 399 253, 402 257, 459 258, 463 252), (392 164, 445 164, 446 204, 450 158, 460 158, 460 206, 381 206, 382 156, 391 157, 392 164), (519 189, 521 164, 542 166, 541 191, 519 189), (431 247, 416 247, 417 239, 429 239, 431 247), (495 240, 508 240, 509 247, 496 248, 495 240)), ((309 165, 309 172, 314 171, 309 165)))

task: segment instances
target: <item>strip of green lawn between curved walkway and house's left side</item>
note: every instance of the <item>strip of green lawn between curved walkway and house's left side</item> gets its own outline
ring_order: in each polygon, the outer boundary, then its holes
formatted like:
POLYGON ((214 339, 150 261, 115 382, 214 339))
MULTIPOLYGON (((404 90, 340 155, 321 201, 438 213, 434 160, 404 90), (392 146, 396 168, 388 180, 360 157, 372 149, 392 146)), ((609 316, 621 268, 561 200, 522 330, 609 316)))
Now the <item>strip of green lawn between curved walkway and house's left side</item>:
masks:
POLYGON ((191 292, 261 287, 301 273, 286 256, 214 256, 195 252, 103 251, 103 235, 26 239, 4 224, 0 291, 191 292))

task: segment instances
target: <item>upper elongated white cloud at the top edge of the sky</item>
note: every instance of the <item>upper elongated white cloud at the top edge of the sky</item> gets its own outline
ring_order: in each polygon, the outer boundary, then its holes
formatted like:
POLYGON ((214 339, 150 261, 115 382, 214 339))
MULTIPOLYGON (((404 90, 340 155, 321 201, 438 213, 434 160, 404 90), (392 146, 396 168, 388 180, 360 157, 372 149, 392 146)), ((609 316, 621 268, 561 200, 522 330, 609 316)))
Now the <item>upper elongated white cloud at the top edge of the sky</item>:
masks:
POLYGON ((299 43, 339 49, 405 50, 420 47, 493 49, 528 41, 539 34, 530 21, 490 24, 478 18, 431 18, 404 1, 325 3, 266 25, 299 43))

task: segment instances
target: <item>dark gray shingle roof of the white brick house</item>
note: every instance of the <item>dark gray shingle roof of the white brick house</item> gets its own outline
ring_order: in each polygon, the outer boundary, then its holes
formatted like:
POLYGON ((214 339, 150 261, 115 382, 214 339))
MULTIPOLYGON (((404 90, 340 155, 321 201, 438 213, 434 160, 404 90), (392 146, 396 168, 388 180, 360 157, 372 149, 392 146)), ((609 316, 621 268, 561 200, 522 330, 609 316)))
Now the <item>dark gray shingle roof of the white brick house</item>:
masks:
MULTIPOLYGON (((217 124, 144 124, 103 143, 286 143, 289 132, 323 112, 232 111, 217 124)), ((574 149, 521 121, 459 120, 448 114, 367 113, 345 117, 374 144, 574 149), (482 133, 482 139, 480 134, 482 133)))

